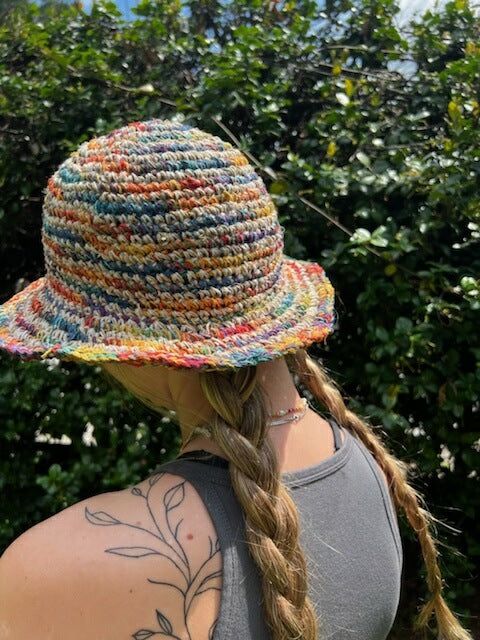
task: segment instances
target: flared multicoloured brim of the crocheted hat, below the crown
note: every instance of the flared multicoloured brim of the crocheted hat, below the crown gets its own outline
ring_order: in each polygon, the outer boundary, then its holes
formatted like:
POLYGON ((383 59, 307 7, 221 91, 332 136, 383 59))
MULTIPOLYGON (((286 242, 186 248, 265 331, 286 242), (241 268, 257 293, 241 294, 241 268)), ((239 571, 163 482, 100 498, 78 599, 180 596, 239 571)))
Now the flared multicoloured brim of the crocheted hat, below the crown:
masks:
MULTIPOLYGON (((173 368, 230 369, 273 360, 322 342, 333 331, 334 288, 317 263, 284 257, 276 293, 257 311, 256 322, 218 337, 205 334, 194 340, 118 338, 114 333, 93 334, 93 340, 71 339, 69 316, 65 328, 55 307, 48 312, 42 277, 0 305, 0 349, 23 360, 56 357, 85 363, 128 362, 173 368), (227 335, 228 334, 228 335, 227 335)), ((51 292, 50 297, 51 300, 51 292)), ((81 307, 79 307, 81 309, 81 307)), ((76 321, 80 326, 84 317, 76 321)), ((80 332, 81 333, 81 332, 80 332)), ((92 333, 88 334, 92 337, 92 333)), ((123 334, 124 335, 124 334, 123 334)), ((187 336, 185 336, 187 337, 187 336)))

